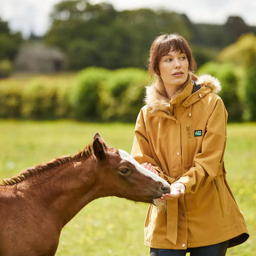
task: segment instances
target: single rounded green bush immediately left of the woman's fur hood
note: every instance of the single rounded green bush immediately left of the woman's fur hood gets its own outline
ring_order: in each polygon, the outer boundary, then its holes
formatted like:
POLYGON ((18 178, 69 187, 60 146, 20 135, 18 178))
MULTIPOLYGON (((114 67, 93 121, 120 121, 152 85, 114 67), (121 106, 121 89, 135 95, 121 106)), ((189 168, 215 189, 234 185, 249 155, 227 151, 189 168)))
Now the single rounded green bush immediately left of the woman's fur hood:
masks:
POLYGON ((98 99, 98 116, 103 121, 135 122, 143 105, 148 73, 137 68, 111 71, 102 84, 98 99))

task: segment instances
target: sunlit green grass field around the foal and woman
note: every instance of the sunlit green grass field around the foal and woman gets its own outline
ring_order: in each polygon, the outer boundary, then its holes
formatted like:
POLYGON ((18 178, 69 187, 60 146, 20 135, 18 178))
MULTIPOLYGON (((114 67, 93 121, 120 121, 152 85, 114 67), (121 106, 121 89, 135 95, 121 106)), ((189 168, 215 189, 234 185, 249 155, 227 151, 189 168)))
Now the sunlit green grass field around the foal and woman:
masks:
MULTIPOLYGON (((109 146, 130 151, 134 124, 75 121, 0 121, 0 179, 63 154, 75 154, 99 132, 109 146)), ((227 255, 256 252, 256 124, 229 124, 227 178, 244 213, 250 238, 227 255)), ((146 204, 119 198, 91 202, 63 228, 58 256, 148 255, 143 246, 146 204)))

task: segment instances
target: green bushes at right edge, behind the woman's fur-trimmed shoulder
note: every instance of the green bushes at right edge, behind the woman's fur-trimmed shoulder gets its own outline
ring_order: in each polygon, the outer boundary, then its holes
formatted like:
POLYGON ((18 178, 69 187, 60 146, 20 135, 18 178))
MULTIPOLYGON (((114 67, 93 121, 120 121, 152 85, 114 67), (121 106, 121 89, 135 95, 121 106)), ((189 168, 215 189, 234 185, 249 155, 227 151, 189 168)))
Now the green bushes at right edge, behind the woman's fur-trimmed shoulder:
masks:
POLYGON ((228 122, 256 121, 256 73, 231 63, 208 62, 199 73, 209 73, 222 84, 222 97, 228 111, 228 122))

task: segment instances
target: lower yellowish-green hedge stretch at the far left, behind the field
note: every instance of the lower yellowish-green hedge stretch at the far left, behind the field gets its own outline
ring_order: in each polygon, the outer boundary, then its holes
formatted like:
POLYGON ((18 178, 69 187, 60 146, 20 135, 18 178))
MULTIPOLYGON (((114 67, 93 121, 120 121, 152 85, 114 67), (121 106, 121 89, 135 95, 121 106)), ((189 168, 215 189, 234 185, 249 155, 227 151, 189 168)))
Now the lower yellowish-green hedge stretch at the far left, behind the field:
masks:
POLYGON ((68 76, 36 76, 0 82, 0 118, 70 118, 68 76))

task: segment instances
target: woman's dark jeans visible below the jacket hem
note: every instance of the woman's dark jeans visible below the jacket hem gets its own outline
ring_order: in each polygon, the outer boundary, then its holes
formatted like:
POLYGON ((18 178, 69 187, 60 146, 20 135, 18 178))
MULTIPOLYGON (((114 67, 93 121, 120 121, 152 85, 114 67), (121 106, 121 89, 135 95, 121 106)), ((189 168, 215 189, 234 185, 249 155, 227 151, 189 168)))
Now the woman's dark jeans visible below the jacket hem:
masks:
POLYGON ((150 256, 185 256, 187 252, 190 252, 190 256, 225 256, 229 242, 225 241, 212 246, 188 248, 186 250, 150 248, 150 256))

